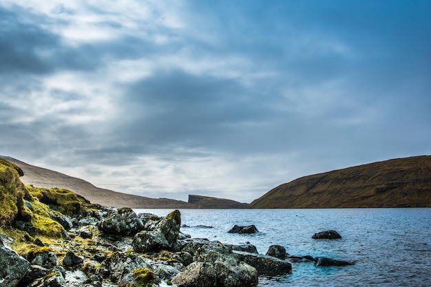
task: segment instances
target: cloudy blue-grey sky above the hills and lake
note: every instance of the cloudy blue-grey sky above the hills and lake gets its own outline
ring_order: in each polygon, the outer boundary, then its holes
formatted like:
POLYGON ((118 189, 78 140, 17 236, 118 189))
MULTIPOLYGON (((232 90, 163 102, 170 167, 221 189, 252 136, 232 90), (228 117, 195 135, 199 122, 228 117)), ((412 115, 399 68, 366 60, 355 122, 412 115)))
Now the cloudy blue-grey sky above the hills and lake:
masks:
POLYGON ((251 202, 431 154, 431 1, 0 0, 0 154, 251 202))

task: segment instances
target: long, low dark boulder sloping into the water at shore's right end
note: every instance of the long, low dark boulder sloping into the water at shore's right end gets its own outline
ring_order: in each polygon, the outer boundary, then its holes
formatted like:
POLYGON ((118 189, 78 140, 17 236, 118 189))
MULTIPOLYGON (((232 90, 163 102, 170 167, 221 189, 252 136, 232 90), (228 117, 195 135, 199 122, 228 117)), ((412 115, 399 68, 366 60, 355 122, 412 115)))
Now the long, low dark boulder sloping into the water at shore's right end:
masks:
POLYGON ((292 264, 282 259, 243 251, 234 252, 241 261, 256 268, 259 275, 276 276, 292 273, 292 264))

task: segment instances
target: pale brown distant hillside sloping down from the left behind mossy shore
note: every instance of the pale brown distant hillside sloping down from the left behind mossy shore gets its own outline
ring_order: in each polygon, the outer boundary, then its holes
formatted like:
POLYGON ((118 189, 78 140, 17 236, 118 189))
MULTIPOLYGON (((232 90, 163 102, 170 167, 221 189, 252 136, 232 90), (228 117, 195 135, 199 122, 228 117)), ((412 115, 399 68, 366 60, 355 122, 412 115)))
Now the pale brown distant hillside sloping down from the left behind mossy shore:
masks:
POLYGON ((134 209, 231 209, 237 208, 236 206, 246 205, 240 202, 234 202, 233 200, 210 198, 200 195, 190 195, 192 198, 194 196, 200 198, 200 200, 189 203, 181 200, 171 200, 169 198, 147 198, 140 195, 120 193, 109 189, 101 189, 80 178, 74 178, 64 173, 36 167, 15 158, 8 156, 1 157, 22 169, 23 176, 21 176, 21 182, 25 185, 68 189, 82 195, 92 203, 98 203, 103 206, 113 206, 117 208, 131 207, 134 209))

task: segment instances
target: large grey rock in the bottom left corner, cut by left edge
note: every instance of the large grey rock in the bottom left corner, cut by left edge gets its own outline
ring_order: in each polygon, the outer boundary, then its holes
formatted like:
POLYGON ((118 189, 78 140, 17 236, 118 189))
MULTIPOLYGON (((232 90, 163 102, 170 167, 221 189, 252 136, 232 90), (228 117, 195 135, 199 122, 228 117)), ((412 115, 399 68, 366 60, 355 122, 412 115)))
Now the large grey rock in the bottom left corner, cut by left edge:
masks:
POLYGON ((3 244, 0 237, 0 286, 14 287, 30 268, 27 260, 3 244))

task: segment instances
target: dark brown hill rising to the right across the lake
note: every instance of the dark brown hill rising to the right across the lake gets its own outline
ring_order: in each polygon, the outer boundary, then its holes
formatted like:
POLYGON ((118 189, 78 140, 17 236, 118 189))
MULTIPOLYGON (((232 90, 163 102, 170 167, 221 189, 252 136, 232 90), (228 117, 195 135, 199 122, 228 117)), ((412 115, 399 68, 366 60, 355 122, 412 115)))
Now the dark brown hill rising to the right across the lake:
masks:
POLYGON ((281 184, 254 209, 431 207, 431 156, 363 164, 281 184))

